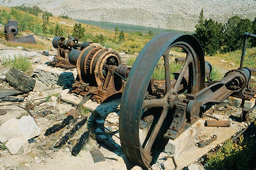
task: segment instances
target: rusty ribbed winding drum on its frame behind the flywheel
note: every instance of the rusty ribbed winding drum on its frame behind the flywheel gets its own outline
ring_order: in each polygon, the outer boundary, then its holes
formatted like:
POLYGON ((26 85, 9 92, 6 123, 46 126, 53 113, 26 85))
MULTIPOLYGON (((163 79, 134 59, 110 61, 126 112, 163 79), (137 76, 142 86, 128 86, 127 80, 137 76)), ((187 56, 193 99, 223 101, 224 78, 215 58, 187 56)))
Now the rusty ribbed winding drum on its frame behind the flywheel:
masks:
POLYGON ((119 54, 111 48, 84 42, 79 49, 71 50, 68 59, 77 68, 72 92, 92 95, 90 99, 98 103, 123 92, 130 67, 122 65, 119 54))

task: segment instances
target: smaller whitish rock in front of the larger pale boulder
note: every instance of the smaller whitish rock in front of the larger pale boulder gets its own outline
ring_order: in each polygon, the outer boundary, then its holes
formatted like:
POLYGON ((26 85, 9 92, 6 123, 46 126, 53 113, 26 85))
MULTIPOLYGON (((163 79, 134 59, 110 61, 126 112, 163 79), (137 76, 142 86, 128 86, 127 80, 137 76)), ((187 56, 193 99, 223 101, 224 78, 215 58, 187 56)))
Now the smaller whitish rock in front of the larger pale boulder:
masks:
POLYGON ((11 138, 5 144, 5 146, 11 154, 23 154, 23 152, 26 151, 28 147, 27 138, 24 137, 23 135, 11 138))

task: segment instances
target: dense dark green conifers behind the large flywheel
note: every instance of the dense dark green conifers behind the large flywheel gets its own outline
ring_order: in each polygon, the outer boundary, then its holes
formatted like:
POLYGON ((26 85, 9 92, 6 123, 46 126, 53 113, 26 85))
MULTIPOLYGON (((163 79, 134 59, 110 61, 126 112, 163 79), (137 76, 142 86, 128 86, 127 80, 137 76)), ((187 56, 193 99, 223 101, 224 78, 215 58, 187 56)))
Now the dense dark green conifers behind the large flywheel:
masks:
MULTIPOLYGON (((241 19, 233 16, 225 24, 218 23, 213 19, 204 19, 204 10, 199 15, 199 22, 195 25, 193 34, 200 41, 205 53, 209 56, 220 53, 233 52, 242 49, 243 34, 250 32, 255 34, 255 19, 241 19)), ((247 48, 255 46, 255 39, 250 39, 247 48)))

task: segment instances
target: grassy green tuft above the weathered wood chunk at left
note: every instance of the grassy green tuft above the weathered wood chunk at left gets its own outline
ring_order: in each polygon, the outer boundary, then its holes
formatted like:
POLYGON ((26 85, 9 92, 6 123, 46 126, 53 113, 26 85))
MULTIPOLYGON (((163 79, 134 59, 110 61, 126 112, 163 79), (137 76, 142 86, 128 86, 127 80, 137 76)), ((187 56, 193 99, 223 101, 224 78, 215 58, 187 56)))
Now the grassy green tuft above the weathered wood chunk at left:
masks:
POLYGON ((14 58, 3 58, 1 63, 5 67, 13 67, 21 71, 28 71, 32 69, 30 58, 24 56, 14 56, 14 58))

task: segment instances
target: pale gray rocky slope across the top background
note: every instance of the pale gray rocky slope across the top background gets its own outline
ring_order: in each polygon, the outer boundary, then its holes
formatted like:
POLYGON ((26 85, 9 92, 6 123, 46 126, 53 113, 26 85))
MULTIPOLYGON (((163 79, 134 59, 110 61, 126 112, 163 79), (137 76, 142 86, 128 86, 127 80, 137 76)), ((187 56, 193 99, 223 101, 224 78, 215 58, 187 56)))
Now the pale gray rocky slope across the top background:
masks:
POLYGON ((226 22, 234 15, 251 20, 256 16, 254 0, 0 0, 0 5, 38 5, 56 15, 73 19, 126 23, 193 31, 204 8, 206 18, 226 22))

